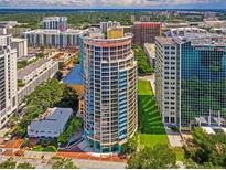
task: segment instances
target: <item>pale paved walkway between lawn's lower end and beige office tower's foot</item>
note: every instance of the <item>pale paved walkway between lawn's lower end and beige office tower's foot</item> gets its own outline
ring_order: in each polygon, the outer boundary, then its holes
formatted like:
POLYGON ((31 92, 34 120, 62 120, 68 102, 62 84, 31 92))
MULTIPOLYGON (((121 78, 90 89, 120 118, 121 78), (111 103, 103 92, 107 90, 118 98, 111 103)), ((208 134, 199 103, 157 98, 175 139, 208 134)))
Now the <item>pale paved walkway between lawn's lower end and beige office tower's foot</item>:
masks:
POLYGON ((183 140, 181 138, 180 132, 173 131, 171 128, 165 126, 165 131, 168 135, 168 139, 170 141, 170 145, 172 147, 182 147, 183 146, 183 140))

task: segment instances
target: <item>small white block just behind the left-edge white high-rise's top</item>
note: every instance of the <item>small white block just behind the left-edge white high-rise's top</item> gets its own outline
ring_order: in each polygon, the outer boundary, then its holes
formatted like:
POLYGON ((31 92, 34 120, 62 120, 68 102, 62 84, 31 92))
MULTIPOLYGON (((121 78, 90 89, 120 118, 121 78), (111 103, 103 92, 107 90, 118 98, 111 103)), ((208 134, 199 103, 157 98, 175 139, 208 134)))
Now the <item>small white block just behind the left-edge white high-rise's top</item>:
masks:
POLYGON ((26 39, 12 39, 12 45, 18 51, 18 57, 28 55, 28 41, 26 39))

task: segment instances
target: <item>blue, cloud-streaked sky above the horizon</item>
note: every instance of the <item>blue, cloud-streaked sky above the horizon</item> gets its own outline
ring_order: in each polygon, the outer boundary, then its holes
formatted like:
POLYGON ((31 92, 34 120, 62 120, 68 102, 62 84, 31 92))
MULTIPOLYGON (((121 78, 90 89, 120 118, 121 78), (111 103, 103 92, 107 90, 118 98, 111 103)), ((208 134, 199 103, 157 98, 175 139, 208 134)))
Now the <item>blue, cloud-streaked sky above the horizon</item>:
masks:
POLYGON ((226 0, 0 0, 0 8, 226 9, 226 0))

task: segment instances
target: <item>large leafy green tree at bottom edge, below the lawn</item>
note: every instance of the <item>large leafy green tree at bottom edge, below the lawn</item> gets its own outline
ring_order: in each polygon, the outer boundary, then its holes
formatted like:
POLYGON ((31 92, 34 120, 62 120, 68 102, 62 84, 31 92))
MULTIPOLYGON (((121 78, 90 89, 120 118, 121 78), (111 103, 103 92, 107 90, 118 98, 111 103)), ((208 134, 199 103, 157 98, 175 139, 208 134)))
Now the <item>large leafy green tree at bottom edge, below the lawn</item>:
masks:
POLYGON ((146 147, 139 153, 133 153, 128 161, 128 168, 171 169, 176 168, 175 152, 164 145, 153 148, 146 147))

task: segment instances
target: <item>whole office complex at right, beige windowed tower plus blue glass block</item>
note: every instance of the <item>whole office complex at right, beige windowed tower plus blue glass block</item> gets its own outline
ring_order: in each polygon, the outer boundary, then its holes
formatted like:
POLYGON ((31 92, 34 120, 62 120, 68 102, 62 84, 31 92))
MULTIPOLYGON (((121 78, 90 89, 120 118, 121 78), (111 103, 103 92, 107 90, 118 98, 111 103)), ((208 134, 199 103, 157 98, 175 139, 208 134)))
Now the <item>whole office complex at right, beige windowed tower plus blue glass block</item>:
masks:
POLYGON ((165 35, 157 39, 155 70, 163 123, 175 111, 180 128, 226 125, 226 38, 197 28, 165 35))

